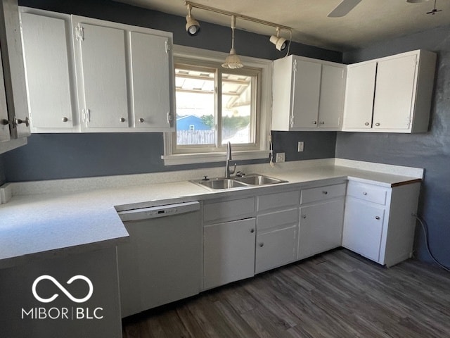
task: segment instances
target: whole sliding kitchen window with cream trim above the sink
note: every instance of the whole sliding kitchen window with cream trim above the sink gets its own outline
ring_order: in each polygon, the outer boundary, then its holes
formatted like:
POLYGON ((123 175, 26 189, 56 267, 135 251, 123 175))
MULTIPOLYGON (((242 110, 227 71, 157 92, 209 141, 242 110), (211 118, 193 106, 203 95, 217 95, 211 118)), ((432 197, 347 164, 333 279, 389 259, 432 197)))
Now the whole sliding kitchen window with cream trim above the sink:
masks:
POLYGON ((165 133, 165 165, 269 155, 271 61, 242 57, 244 68, 221 67, 226 54, 176 46, 176 132, 165 133), (178 52, 177 52, 178 51, 178 52))

